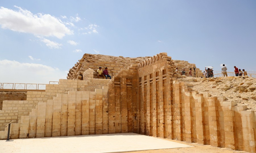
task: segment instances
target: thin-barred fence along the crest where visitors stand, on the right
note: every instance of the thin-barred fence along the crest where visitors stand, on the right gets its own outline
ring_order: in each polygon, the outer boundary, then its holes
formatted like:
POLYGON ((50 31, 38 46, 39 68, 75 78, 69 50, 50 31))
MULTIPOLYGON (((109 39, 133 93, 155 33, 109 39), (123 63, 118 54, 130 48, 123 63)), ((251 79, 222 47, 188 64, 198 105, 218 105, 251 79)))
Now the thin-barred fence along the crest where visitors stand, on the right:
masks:
MULTIPOLYGON (((186 77, 224 77, 224 73, 222 71, 205 71, 207 72, 204 74, 202 70, 189 70, 189 69, 176 69, 176 73, 180 75, 185 75, 186 77)), ((226 75, 225 75, 226 76, 226 75)), ((235 77, 236 74, 235 72, 227 72, 228 77, 235 77)), ((256 72, 255 71, 245 71, 245 72, 240 72, 238 73, 238 76, 248 76, 248 77, 253 77, 256 78, 256 72)))

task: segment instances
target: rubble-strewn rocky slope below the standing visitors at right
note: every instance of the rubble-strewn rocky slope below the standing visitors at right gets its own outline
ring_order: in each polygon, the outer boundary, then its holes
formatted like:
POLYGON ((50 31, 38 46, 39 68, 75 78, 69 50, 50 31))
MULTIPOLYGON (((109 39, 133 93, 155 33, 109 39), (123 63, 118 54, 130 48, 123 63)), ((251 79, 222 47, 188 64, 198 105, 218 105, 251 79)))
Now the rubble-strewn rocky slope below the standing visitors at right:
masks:
POLYGON ((179 79, 189 81, 188 87, 199 93, 208 92, 211 96, 225 96, 229 101, 236 101, 237 105, 246 105, 248 109, 256 110, 256 78, 240 77, 212 77, 179 79))

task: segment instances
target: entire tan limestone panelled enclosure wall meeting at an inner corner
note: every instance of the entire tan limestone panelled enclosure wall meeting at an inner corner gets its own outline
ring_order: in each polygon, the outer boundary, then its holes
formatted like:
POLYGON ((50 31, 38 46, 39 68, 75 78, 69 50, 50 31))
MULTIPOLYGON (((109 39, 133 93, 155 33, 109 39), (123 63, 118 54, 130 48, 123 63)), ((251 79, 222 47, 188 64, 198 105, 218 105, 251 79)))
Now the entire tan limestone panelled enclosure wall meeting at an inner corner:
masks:
POLYGON ((255 112, 225 97, 192 91, 177 79, 176 67, 160 53, 117 70, 110 80, 94 78, 93 69, 81 64, 70 79, 47 84, 45 92, 28 92, 26 101, 4 101, 0 138, 7 137, 2 127, 14 120, 11 138, 133 132, 256 152, 255 112), (75 79, 81 69, 83 80, 75 79))

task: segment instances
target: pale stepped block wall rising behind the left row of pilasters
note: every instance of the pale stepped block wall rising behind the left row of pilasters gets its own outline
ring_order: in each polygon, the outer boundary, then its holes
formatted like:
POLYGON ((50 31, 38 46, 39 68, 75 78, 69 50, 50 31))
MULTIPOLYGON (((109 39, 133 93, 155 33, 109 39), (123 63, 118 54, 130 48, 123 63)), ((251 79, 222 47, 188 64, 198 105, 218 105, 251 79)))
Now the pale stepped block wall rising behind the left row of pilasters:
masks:
MULTIPOLYGON (((91 73, 93 73, 92 70, 91 73)), ((102 86, 107 85, 109 81, 109 79, 97 79, 97 83, 95 83, 96 81, 60 79, 59 84, 46 84, 44 92, 28 91, 27 100, 3 101, 3 110, 0 110, 0 130, 4 130, 4 125, 7 123, 11 121, 17 123, 22 116, 29 115, 31 110, 35 108, 39 102, 46 103, 47 100, 53 99, 57 94, 67 94, 68 91, 95 91, 96 87, 102 88, 102 86)))

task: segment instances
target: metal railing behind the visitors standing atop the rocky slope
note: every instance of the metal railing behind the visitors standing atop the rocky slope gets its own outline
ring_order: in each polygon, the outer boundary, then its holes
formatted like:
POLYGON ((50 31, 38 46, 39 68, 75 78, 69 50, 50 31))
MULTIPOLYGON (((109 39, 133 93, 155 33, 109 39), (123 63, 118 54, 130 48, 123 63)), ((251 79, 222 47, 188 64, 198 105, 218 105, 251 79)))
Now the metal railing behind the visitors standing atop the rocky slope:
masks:
MULTIPOLYGON (((194 70, 192 69, 191 71, 189 69, 185 69, 185 73, 181 73, 183 71, 183 69, 178 69, 178 72, 176 71, 176 73, 182 75, 184 74, 186 77, 205 77, 203 75, 203 72, 205 70, 194 70)), ((213 72, 213 77, 224 77, 222 71, 212 71, 213 72)), ((235 72, 227 72, 228 77, 235 77, 236 74, 235 72)), ((242 76, 244 76, 244 72, 242 74, 242 76)), ((256 72, 255 71, 248 71, 247 72, 247 76, 248 77, 253 77, 256 78, 256 72)))

